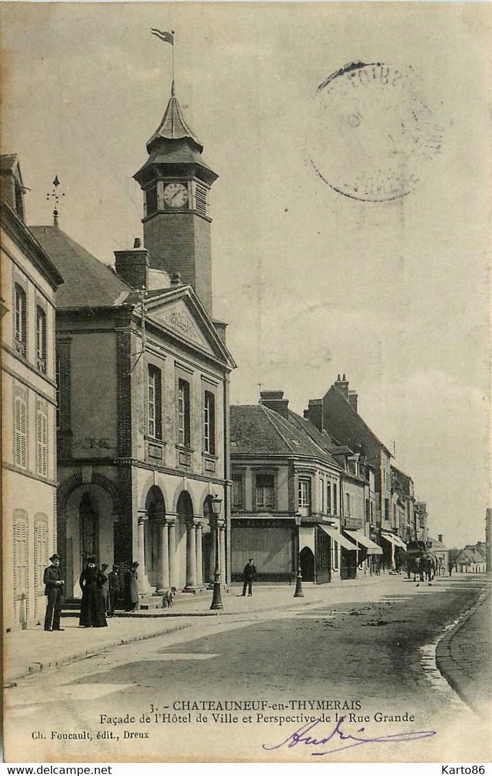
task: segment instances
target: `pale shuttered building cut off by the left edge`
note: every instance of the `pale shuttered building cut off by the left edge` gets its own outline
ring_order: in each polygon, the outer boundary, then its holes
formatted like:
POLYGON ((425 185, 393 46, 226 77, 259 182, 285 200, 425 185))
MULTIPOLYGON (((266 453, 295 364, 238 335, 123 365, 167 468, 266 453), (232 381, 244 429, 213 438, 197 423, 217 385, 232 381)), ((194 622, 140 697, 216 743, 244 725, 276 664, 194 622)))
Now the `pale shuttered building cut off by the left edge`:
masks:
POLYGON ((63 280, 26 227, 16 155, 1 161, 3 614, 9 630, 43 617, 43 570, 57 546, 54 294, 63 280))

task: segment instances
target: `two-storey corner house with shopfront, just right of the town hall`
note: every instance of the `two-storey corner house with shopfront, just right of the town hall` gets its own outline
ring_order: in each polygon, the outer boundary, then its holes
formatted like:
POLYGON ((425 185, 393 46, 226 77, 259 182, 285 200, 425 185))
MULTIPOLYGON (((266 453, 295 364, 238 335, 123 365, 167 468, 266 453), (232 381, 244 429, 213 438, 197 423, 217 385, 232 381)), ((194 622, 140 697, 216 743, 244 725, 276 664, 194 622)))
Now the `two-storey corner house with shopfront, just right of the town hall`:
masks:
POLYGON ((320 584, 354 577, 369 552, 382 553, 365 532, 359 456, 290 411, 282 391, 230 407, 230 457, 233 579, 252 556, 261 580, 293 582, 300 564, 303 580, 320 584))

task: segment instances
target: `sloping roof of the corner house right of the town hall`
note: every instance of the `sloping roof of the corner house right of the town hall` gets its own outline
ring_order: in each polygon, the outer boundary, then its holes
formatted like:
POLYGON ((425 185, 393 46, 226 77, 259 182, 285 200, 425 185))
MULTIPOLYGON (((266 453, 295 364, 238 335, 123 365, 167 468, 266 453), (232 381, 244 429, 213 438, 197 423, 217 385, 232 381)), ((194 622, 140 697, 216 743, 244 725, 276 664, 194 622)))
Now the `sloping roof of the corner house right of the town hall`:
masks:
POLYGON ((337 466, 320 445, 317 445, 298 415, 289 411, 289 420, 261 404, 241 404, 230 407, 231 453, 239 455, 284 455, 321 458, 337 466))

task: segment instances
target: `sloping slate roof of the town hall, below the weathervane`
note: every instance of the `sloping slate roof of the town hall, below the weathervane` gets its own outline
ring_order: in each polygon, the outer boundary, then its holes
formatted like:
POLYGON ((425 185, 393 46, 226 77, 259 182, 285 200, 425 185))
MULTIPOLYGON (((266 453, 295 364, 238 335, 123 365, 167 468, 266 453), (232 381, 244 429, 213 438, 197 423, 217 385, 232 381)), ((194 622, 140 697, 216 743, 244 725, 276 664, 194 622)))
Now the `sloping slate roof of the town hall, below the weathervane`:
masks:
POLYGON ((57 267, 64 285, 57 290, 57 308, 114 307, 133 289, 107 265, 68 237, 58 226, 29 227, 57 267))

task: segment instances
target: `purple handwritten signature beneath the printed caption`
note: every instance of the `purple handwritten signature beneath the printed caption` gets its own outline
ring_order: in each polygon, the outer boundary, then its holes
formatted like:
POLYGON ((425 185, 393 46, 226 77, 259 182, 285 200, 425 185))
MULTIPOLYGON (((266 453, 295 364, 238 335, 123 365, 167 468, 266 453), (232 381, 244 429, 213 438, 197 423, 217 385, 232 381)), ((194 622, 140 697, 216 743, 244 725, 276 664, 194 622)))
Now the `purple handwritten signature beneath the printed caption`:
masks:
MULTIPOLYGON (((341 750, 351 749, 352 747, 360 747, 365 743, 402 743, 404 741, 417 741, 421 738, 435 736, 436 733, 435 730, 417 730, 408 731, 407 733, 393 733, 390 736, 376 736, 375 738, 369 738, 366 736, 352 735, 352 733, 345 733, 345 731, 342 729, 342 726, 345 722, 345 717, 340 717, 337 724, 334 726, 334 729, 331 731, 331 733, 329 733, 329 735, 324 736, 323 738, 315 738, 312 735, 307 735, 307 733, 310 733, 317 725, 320 724, 320 722, 321 719, 315 719, 314 722, 308 722, 307 725, 303 725, 294 733, 291 733, 289 736, 287 736, 286 740, 275 744, 274 747, 267 747, 267 745, 264 743, 263 749, 280 749, 280 747, 285 746, 291 749, 292 747, 296 747, 298 743, 304 744, 307 747, 324 747, 325 744, 329 744, 330 747, 334 747, 322 751, 311 752, 312 757, 324 757, 325 754, 341 752, 341 750), (338 744, 342 742, 347 743, 343 743, 343 746, 338 746, 338 744)), ((356 733, 364 733, 365 729, 366 728, 363 727, 359 728, 356 733)), ((317 734, 319 735, 318 732, 317 734)))

